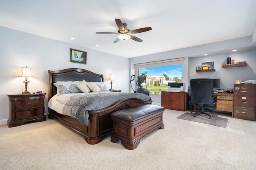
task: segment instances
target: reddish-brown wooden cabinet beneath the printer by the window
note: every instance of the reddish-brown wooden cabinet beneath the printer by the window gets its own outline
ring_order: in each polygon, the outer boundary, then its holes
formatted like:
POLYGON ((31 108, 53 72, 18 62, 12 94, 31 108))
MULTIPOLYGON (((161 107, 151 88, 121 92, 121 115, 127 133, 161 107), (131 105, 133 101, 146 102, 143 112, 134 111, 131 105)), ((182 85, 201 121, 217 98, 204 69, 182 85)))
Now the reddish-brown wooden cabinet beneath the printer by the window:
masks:
POLYGON ((166 109, 185 111, 185 92, 161 92, 161 106, 166 109))

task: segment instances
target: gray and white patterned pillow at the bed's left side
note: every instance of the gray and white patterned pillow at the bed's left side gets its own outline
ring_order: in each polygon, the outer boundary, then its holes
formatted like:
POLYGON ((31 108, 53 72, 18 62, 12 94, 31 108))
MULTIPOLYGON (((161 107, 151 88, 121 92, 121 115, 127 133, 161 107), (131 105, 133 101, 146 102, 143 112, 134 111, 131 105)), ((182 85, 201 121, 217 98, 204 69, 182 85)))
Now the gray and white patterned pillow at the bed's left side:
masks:
POLYGON ((63 95, 67 93, 82 93, 76 85, 79 85, 82 81, 58 81, 54 83, 57 87, 57 95, 63 95))

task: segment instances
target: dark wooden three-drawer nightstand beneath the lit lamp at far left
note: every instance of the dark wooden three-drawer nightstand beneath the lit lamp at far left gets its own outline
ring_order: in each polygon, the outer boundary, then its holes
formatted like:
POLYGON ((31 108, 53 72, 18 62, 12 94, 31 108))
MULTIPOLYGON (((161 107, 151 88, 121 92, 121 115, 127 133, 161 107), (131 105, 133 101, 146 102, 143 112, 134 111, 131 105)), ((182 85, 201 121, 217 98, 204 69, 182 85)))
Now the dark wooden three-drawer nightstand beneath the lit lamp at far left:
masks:
POLYGON ((10 101, 8 127, 20 126, 28 121, 45 121, 45 95, 46 93, 8 95, 10 101))

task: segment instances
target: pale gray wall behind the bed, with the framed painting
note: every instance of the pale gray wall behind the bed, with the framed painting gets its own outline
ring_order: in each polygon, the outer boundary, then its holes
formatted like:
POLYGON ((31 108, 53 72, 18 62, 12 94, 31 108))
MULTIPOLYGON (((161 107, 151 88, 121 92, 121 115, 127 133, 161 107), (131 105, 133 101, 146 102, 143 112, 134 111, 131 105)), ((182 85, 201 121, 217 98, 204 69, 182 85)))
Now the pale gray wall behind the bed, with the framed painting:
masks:
MULTIPOLYGON (((46 94, 45 106, 48 111, 48 70, 82 68, 103 74, 110 89, 108 74, 114 75, 112 88, 128 92, 129 59, 72 45, 25 32, 0 27, 0 124, 9 118, 9 101, 6 94, 21 93, 25 90, 17 77, 21 67, 31 67, 35 77, 28 77, 28 91, 43 91, 46 94), (87 52, 87 64, 71 63, 70 48, 87 52), (116 64, 122 63, 122 64, 116 64)), ((86 40, 85 40, 86 41, 86 40)))

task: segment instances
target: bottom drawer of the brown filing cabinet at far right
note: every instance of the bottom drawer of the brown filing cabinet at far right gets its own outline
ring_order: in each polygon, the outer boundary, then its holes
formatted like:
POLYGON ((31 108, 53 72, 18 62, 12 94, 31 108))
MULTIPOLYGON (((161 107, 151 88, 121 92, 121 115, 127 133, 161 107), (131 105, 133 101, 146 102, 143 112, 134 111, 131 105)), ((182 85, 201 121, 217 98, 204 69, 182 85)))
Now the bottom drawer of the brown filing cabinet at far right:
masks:
POLYGON ((255 117, 255 107, 234 106, 234 117, 255 117))

